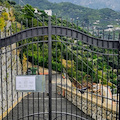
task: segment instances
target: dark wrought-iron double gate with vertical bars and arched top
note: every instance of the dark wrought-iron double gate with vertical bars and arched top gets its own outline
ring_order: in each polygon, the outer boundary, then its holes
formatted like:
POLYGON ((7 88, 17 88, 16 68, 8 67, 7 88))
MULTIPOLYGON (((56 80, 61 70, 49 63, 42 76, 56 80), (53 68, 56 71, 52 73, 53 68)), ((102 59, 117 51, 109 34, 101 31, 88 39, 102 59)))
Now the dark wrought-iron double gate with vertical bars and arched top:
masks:
POLYGON ((106 40, 104 30, 95 37, 61 18, 45 22, 26 21, 20 32, 16 24, 0 39, 0 119, 119 119, 120 38, 106 40), (18 75, 44 75, 45 92, 16 91, 18 75))

